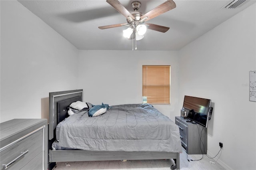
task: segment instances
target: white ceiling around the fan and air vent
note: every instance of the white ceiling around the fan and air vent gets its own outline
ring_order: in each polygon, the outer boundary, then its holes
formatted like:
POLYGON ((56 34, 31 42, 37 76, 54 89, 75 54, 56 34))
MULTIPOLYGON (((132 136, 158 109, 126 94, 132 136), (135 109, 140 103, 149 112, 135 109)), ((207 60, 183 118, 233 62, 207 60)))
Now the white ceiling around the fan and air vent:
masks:
MULTIPOLYGON (((119 0, 130 12, 133 0, 119 0)), ((230 0, 174 0, 176 8, 148 23, 170 27, 166 33, 147 30, 137 41, 138 50, 179 50, 196 38, 255 3, 222 8, 230 0)), ((98 26, 126 23, 126 18, 105 0, 20 0, 28 10, 78 49, 131 50, 132 40, 122 36, 126 26, 100 30, 98 26)), ((165 0, 140 0, 146 13, 165 0)), ((134 44, 135 45, 135 44, 134 44)))

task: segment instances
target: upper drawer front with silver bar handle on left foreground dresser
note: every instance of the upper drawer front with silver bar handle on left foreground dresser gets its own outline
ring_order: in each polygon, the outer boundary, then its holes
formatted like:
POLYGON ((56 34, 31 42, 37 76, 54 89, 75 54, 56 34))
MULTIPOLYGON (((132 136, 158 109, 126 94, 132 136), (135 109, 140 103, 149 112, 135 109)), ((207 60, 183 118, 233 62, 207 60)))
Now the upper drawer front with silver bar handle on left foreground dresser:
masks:
MULTIPOLYGON (((38 154, 42 154, 43 156, 42 136, 43 130, 40 129, 39 131, 32 133, 30 136, 27 136, 5 150, 2 150, 2 152, 0 152, 1 170, 18 170, 25 166, 38 154), (8 168, 6 168, 7 165, 8 168)), ((39 164, 40 167, 43 167, 42 160, 35 162, 35 164, 37 165, 34 167, 38 167, 39 164)))

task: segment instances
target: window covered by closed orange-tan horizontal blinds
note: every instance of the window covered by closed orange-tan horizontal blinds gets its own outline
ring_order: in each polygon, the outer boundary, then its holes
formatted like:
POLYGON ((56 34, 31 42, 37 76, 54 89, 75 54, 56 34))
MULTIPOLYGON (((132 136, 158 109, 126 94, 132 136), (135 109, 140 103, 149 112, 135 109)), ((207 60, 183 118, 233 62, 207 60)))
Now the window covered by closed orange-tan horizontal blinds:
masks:
POLYGON ((142 96, 150 104, 170 104, 170 65, 142 65, 142 96))

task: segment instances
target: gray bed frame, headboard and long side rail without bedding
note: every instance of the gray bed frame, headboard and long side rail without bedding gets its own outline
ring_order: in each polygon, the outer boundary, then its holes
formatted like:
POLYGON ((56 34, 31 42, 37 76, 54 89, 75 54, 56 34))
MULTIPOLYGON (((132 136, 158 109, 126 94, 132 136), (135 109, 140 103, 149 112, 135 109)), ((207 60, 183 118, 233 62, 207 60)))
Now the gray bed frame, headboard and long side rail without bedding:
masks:
MULTIPOLYGON (((58 91, 49 93, 49 148, 55 140, 55 128, 58 123, 65 119, 67 109, 72 102, 82 101, 83 90, 58 91), (58 102, 68 100, 68 105, 58 108, 58 102), (58 109, 57 109, 58 108, 58 109)), ((88 151, 88 150, 50 150, 49 164, 51 162, 75 162, 75 161, 98 161, 98 160, 151 160, 151 159, 174 159, 176 168, 180 169, 180 153, 178 152, 125 152, 125 151, 88 151)))

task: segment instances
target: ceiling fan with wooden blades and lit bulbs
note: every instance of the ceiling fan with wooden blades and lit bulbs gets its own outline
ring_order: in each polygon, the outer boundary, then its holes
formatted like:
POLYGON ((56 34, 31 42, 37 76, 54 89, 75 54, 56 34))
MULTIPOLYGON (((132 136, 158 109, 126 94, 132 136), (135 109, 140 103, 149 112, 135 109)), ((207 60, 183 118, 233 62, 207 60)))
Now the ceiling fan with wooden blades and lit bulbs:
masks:
POLYGON ((134 12, 130 13, 118 0, 106 0, 106 2, 108 2, 108 4, 113 6, 118 12, 125 16, 127 23, 100 26, 98 28, 103 30, 107 28, 129 26, 129 28, 123 31, 124 36, 128 39, 136 38, 136 40, 141 40, 144 37, 143 35, 146 33, 147 28, 158 32, 167 32, 169 30, 169 27, 145 22, 163 14, 164 12, 176 8, 176 4, 172 0, 167 0, 166 2, 147 12, 146 14, 142 14, 141 12, 138 12, 141 3, 139 1, 133 1, 131 3, 131 6, 134 12))

